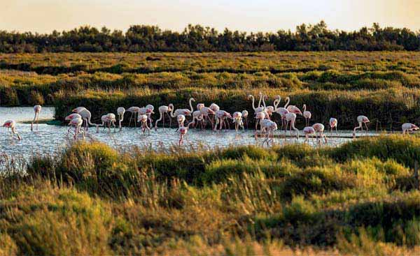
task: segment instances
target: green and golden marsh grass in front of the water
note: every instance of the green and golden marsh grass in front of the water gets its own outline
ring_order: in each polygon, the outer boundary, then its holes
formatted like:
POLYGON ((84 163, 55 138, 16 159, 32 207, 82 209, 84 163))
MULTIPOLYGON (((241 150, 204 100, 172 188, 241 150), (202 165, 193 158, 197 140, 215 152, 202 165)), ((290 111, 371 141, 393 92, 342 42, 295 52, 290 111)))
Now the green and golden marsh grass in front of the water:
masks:
POLYGON ((418 137, 1 158, 0 255, 415 255, 418 137))

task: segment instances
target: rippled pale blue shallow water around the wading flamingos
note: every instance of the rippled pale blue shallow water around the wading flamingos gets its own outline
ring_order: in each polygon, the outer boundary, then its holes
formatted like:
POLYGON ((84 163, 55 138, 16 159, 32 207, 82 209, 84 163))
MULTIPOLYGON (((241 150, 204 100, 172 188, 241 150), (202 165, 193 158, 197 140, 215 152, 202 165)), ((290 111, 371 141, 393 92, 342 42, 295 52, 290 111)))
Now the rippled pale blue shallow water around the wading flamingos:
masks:
MULTIPOLYGON (((52 119, 54 109, 52 107, 43 107, 40 114, 40 119, 52 119)), ((31 125, 29 123, 22 123, 23 121, 30 121, 34 117, 32 107, 0 107, 0 122, 7 119, 14 119, 17 121, 17 130, 20 133, 22 140, 18 141, 8 135, 6 128, 0 128, 0 154, 6 155, 15 159, 28 160, 31 156, 38 154, 54 154, 59 149, 64 149, 74 142, 71 135, 65 136, 67 127, 65 126, 51 126, 45 123, 38 125, 38 130, 31 132, 31 125)), ((275 135, 284 135, 283 131, 277 130, 275 135)), ((288 133, 289 134, 289 133, 288 133)), ((329 133, 326 133, 329 135, 329 133)), ((334 135, 334 133, 333 133, 334 135)), ((360 133, 358 134, 360 135, 360 133)), ((375 135, 375 133, 369 133, 375 135)), ((351 131, 339 131, 339 137, 328 137, 328 145, 337 146, 344 142, 351 140, 351 131)), ((83 140, 81 137, 78 140, 83 140)), ((131 146, 151 146, 153 149, 169 148, 178 143, 179 133, 175 132, 174 128, 158 128, 157 131, 151 130, 151 135, 143 135, 139 127, 137 128, 123 128, 122 131, 118 129, 114 132, 100 129, 96 133, 95 128, 90 128, 87 131, 87 141, 97 140, 113 146, 116 149, 130 150, 131 146)), ((184 146, 198 146, 204 145, 209 148, 216 146, 230 146, 230 145, 245 145, 245 144, 259 144, 264 141, 259 138, 255 141, 253 137, 253 130, 245 130, 244 132, 236 133, 235 130, 212 132, 210 130, 195 130, 190 128, 184 146)), ((287 137, 286 140, 281 137, 274 138, 274 144, 290 144, 290 143, 304 143, 302 131, 300 132, 300 139, 296 140, 293 137, 287 137)), ((272 144, 272 143, 270 143, 272 144)), ((318 146, 316 140, 309 144, 318 146)), ((323 144, 321 144, 323 145, 323 144)))

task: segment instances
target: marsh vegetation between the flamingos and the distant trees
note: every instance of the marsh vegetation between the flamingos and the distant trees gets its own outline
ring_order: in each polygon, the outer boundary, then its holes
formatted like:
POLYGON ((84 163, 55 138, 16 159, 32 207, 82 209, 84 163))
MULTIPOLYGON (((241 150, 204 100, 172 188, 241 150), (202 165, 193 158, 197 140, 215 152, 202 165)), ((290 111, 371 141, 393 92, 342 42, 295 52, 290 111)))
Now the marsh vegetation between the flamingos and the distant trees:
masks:
POLYGON ((0 68, 1 105, 55 105, 58 120, 79 105, 99 121, 120 106, 188 107, 190 96, 250 111, 247 94, 264 91, 341 128, 359 114, 378 130, 420 121, 419 52, 0 54, 0 68))

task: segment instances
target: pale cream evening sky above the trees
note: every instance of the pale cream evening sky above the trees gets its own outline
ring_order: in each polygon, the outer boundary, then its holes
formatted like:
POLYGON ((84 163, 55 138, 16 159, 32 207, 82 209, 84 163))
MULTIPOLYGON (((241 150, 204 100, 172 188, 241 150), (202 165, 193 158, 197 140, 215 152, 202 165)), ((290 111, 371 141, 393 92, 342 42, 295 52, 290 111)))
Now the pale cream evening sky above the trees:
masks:
POLYGON ((373 22, 420 29, 420 0, 0 0, 0 6, 0 30, 38 33, 82 25, 126 31, 132 24, 275 32, 321 20, 346 31, 373 22))

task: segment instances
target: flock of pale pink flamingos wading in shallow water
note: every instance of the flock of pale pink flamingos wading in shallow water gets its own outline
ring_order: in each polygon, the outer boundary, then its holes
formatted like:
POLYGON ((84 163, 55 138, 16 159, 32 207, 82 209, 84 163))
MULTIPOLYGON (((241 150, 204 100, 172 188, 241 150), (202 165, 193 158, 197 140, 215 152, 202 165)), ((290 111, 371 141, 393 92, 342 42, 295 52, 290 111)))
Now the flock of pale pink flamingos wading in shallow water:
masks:
MULTIPOLYGON (((321 143, 321 140, 324 139, 325 143, 327 142, 327 138, 325 136, 324 129, 322 123, 314 123, 312 126, 309 125, 309 121, 311 119, 311 112, 307 110, 307 106, 303 105, 303 112, 299 109, 299 107, 295 105, 289 105, 290 98, 286 97, 286 104, 283 107, 279 107, 281 97, 276 96, 274 98, 274 103, 272 106, 265 105, 265 99, 267 96, 263 96, 262 93, 259 93, 260 100, 258 105, 255 107, 255 98, 252 95, 249 95, 248 98, 252 99, 252 107, 254 110, 253 118, 255 121, 255 139, 258 136, 265 137, 264 145, 271 142, 274 138, 274 130, 278 129, 277 123, 272 121, 272 114, 276 113, 281 116, 281 129, 284 127, 285 138, 286 138, 286 131, 288 127, 290 128, 290 134, 293 134, 292 130, 296 132, 297 140, 299 140, 299 130, 295 128, 295 121, 297 115, 302 115, 306 121, 306 127, 303 129, 303 133, 305 135, 305 142, 309 141, 309 135, 311 135, 312 140, 314 140, 314 136, 316 136, 316 140, 318 143, 321 143), (262 103, 262 104, 261 104, 262 103), (259 126, 259 128, 258 128, 259 126)), ((225 110, 221 110, 220 107, 216 103, 212 103, 209 107, 206 107, 203 103, 197 104, 197 110, 193 109, 193 101, 194 98, 190 98, 189 105, 190 109, 176 109, 174 110, 174 105, 162 105, 158 108, 159 110, 159 119, 155 121, 155 129, 158 129, 158 123, 162 121, 162 125, 165 128, 165 114, 169 118, 169 127, 172 124, 172 118, 176 118, 178 122, 178 129, 176 131, 179 132, 179 145, 183 144, 183 138, 188 133, 188 129, 190 127, 200 126, 202 129, 207 128, 210 124, 212 130, 222 130, 223 128, 230 128, 230 121, 235 123, 235 130, 238 132, 239 129, 244 130, 244 120, 246 126, 248 126, 248 111, 243 110, 242 112, 234 112, 230 114, 225 110), (192 116, 192 121, 185 125, 186 116, 192 116)), ((137 122, 141 123, 140 127, 143 133, 150 134, 151 127, 153 127, 153 119, 152 114, 154 107, 153 105, 146 105, 146 107, 130 107, 125 110, 124 107, 118 107, 117 114, 118 114, 118 127, 121 130, 124 119, 125 112, 130 113, 130 121, 129 126, 132 121, 134 121, 134 126, 137 126, 137 122), (149 126, 150 124, 150 126, 149 126)), ((31 130, 34 128, 34 123, 38 124, 38 116, 41 112, 41 106, 36 105, 34 106, 34 120, 31 122, 31 130)), ((104 114, 102 116, 102 123, 96 124, 92 123, 91 117, 92 114, 89 110, 85 107, 76 107, 72 114, 66 116, 65 120, 69 121, 69 130, 67 130, 67 134, 73 134, 74 139, 78 137, 78 135, 82 135, 83 138, 85 137, 85 133, 88 130, 89 126, 95 126, 97 128, 97 132, 99 131, 99 127, 108 128, 111 130, 111 126, 113 126, 114 131, 116 130, 116 115, 113 113, 104 114), (82 126, 84 125, 84 128, 82 126), (72 129, 74 128, 74 130, 72 129)), ((360 115, 357 117, 358 126, 353 128, 353 137, 356 136, 356 130, 360 129, 363 132, 363 124, 366 128, 367 133, 367 123, 369 123, 369 119, 367 116, 360 115)), ((330 132, 335 129, 337 133, 337 125, 338 121, 335 118, 330 118, 329 121, 330 132)), ((3 123, 3 127, 6 127, 11 130, 11 134, 14 137, 17 137, 18 140, 22 140, 19 133, 16 130, 16 122, 13 120, 8 120, 3 123)), ((413 130, 419 130, 419 127, 412 123, 404 123, 402 124, 402 134, 409 133, 413 130)))

